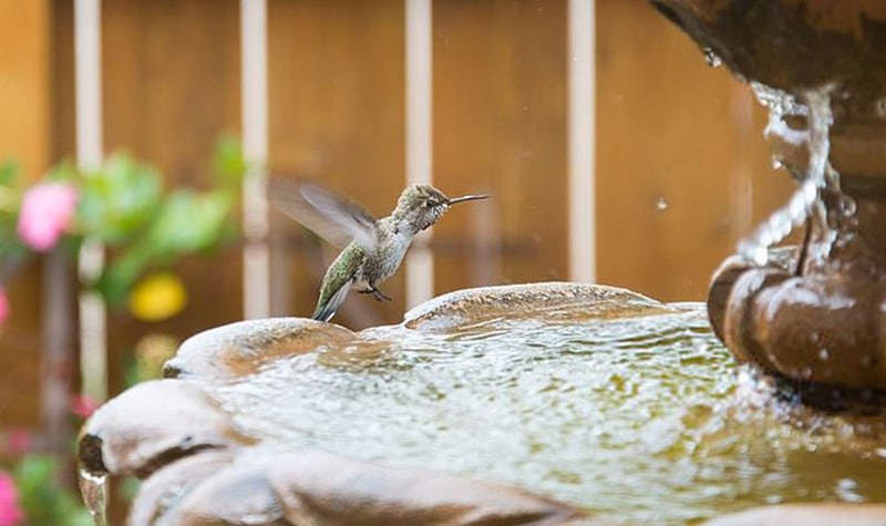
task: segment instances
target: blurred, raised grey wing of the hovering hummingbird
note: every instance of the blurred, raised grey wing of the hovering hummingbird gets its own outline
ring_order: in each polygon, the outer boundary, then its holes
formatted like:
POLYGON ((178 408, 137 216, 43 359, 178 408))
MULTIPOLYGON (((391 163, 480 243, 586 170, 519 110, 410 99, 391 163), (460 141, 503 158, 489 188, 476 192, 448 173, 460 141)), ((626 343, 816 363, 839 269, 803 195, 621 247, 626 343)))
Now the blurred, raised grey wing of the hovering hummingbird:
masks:
POLYGON ((375 245, 375 218, 357 203, 320 185, 270 177, 268 197, 280 212, 339 248, 357 241, 369 251, 375 245))

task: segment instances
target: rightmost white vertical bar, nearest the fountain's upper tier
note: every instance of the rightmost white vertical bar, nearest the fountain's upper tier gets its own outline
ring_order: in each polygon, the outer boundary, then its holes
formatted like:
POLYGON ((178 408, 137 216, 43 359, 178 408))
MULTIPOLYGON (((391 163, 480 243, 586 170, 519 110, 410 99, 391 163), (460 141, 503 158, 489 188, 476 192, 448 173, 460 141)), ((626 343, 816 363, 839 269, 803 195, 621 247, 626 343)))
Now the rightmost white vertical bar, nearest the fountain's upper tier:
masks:
POLYGON ((569 279, 594 282, 595 205, 595 16, 594 0, 569 0, 569 279))

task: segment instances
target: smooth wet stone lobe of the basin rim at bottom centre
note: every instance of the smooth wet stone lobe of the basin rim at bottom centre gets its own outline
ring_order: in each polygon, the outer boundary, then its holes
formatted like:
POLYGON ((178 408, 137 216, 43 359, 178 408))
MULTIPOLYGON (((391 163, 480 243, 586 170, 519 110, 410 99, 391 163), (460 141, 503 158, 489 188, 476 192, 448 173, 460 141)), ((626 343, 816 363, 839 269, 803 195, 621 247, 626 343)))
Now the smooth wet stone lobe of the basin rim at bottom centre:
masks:
POLYGON ((272 464, 269 476, 291 524, 563 525, 587 520, 571 506, 522 489, 381 467, 321 451, 287 454, 272 464))

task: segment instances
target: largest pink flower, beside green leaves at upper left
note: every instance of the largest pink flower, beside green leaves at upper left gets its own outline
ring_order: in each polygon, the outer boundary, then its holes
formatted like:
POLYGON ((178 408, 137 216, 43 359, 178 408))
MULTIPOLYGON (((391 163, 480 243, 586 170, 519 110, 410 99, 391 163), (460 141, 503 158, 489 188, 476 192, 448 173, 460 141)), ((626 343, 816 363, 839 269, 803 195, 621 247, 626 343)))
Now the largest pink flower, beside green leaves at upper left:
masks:
POLYGON ((40 252, 54 247, 71 225, 76 199, 76 188, 68 183, 41 183, 31 187, 21 203, 19 237, 40 252))

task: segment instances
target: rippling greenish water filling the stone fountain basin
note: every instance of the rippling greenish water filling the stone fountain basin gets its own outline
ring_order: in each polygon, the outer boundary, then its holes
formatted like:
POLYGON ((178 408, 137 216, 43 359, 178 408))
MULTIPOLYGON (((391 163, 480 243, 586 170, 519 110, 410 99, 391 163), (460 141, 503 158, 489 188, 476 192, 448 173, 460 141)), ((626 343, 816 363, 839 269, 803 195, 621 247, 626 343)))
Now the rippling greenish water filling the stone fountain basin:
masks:
POLYGON ((736 369, 700 303, 606 319, 497 318, 292 357, 207 385, 245 432, 516 484, 625 524, 774 502, 884 501, 886 440, 803 417, 736 369))

